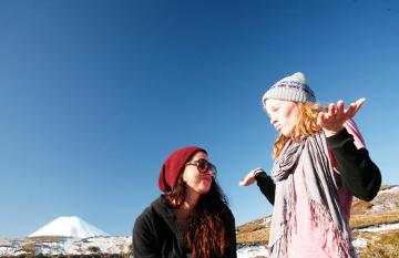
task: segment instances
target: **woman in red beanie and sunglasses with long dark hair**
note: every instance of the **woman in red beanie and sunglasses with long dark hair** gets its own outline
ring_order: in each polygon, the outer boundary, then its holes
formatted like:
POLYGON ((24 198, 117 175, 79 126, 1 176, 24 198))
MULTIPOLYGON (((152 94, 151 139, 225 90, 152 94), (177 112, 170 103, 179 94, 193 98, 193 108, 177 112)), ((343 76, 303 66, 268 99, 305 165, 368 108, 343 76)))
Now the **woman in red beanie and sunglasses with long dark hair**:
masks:
POLYGON ((135 258, 235 258, 235 220, 207 152, 173 152, 158 177, 163 192, 135 220, 135 258))

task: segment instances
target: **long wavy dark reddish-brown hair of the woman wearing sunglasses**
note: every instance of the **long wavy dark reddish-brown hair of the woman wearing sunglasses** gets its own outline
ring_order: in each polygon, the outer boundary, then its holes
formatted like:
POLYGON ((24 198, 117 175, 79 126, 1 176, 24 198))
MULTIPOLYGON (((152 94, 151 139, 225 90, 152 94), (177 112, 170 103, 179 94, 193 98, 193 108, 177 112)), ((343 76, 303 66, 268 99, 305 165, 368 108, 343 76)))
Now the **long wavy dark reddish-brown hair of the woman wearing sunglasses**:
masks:
MULTIPOLYGON (((185 199, 186 185, 178 177, 173 192, 163 195, 171 208, 178 208, 185 199)), ((224 257, 228 244, 226 221, 228 203, 221 187, 213 179, 211 189, 201 195, 200 200, 187 218, 185 239, 193 258, 224 257)))

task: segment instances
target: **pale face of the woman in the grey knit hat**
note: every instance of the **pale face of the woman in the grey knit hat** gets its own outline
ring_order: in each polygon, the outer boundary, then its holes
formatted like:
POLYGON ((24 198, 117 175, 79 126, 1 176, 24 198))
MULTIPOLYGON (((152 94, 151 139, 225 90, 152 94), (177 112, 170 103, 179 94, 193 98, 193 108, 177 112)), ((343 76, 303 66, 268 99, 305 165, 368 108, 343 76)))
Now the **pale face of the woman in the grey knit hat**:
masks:
POLYGON ((270 124, 286 137, 289 137, 299 118, 298 103, 282 100, 266 100, 265 103, 270 124))

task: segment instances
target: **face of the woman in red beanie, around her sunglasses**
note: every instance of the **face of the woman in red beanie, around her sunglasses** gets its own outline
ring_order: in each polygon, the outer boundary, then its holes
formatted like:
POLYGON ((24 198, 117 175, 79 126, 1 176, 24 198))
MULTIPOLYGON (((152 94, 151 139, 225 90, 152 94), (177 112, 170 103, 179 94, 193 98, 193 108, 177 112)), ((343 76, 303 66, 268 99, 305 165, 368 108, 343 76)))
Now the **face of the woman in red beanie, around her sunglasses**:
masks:
MULTIPOLYGON (((208 156, 204 152, 197 152, 187 163, 194 164, 200 158, 208 159, 208 156)), ((200 196, 211 189, 213 174, 211 169, 206 173, 200 173, 196 165, 186 165, 183 172, 183 180, 186 184, 187 192, 200 196)))

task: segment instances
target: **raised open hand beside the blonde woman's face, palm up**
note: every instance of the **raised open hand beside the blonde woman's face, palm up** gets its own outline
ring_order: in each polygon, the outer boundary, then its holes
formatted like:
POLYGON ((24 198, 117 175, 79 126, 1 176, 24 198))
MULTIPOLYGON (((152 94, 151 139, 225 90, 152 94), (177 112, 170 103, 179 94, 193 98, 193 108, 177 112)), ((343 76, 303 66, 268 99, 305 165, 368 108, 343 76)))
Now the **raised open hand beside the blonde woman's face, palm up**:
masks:
POLYGON ((345 110, 344 101, 338 101, 337 105, 330 103, 325 111, 321 111, 317 116, 317 124, 319 124, 326 136, 332 136, 344 128, 344 123, 354 117, 366 102, 365 97, 350 103, 349 107, 345 110))

